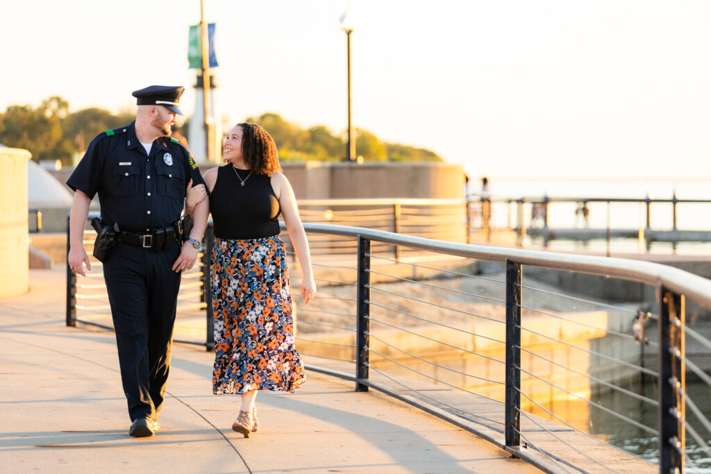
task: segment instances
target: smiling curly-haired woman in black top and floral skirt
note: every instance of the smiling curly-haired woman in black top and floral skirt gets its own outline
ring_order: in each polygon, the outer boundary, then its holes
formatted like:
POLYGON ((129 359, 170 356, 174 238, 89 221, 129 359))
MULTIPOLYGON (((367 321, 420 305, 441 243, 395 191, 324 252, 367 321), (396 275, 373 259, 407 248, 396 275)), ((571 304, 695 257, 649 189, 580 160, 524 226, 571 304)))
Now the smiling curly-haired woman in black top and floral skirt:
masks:
MULTIPOLYGON (((261 126, 237 124, 223 143, 225 166, 205 172, 215 246, 212 276, 215 324, 214 394, 240 394, 242 406, 232 429, 257 431, 257 390, 293 392, 304 380, 294 348, 292 298, 281 212, 301 265, 301 296, 316 295, 309 242, 296 208, 294 190, 281 172, 277 146, 261 126)), ((205 195, 191 188, 186 210, 205 195)))

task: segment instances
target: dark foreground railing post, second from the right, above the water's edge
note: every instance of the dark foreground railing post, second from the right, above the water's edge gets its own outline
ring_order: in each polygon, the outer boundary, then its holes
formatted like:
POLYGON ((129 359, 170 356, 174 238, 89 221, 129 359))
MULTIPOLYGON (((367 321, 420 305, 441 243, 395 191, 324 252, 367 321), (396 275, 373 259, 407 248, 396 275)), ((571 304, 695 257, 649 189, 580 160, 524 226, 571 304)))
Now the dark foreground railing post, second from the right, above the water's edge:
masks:
POLYGON ((521 265, 506 259, 506 446, 520 446, 521 265))

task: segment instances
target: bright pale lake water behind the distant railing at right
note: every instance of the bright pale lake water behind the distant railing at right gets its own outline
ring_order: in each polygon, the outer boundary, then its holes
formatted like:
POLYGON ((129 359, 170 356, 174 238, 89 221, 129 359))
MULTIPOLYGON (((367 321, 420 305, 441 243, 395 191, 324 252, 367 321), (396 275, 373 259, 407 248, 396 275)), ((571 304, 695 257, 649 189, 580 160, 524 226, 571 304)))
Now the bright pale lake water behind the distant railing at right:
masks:
MULTIPOLYGON (((707 181, 491 181, 490 193, 497 198, 637 198, 670 199, 676 194, 678 199, 709 199, 711 186, 707 181)), ((589 203, 591 228, 605 229, 608 223, 606 203, 589 203)), ((582 216, 576 214, 576 203, 551 203, 548 208, 548 224, 553 228, 584 227, 582 216)), ((492 227, 515 225, 518 208, 515 205, 493 203, 491 208, 492 227)), ((531 207, 526 205, 524 220, 527 227, 531 222, 531 207)), ((646 227, 646 205, 641 203, 611 203, 609 208, 611 228, 638 229, 646 227)), ((539 225, 540 226, 540 225, 539 225)), ((650 227, 653 230, 673 229, 673 205, 652 203, 650 206, 650 227)), ((681 203, 677 205, 678 230, 711 231, 711 203, 681 203)), ((530 238, 526 247, 540 248, 542 239, 530 238)), ((547 249, 563 252, 605 252, 604 239, 589 242, 556 240, 549 242, 547 249)), ((711 255, 711 242, 652 242, 640 246, 638 239, 614 239, 611 252, 651 253, 680 255, 711 255)))

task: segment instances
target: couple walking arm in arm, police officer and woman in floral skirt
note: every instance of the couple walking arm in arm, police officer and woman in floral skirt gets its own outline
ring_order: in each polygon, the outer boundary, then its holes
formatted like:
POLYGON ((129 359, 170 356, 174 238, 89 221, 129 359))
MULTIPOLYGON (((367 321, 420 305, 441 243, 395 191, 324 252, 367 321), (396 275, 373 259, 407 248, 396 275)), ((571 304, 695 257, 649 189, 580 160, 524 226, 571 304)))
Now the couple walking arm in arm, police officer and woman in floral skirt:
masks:
POLYGON ((182 93, 168 86, 134 91, 136 120, 91 142, 67 181, 75 191, 68 263, 82 276, 84 266, 91 269, 82 238, 98 195, 129 435, 152 436, 160 427, 181 273, 195 264, 212 213, 213 393, 240 394, 232 429, 248 437, 259 429, 257 390, 293 392, 305 380, 279 215, 301 264, 306 303, 316 295, 309 244, 267 131, 256 124, 232 128, 223 144, 225 166, 201 176, 193 156, 169 137, 182 114, 182 93), (181 235, 183 203, 194 225, 181 235))

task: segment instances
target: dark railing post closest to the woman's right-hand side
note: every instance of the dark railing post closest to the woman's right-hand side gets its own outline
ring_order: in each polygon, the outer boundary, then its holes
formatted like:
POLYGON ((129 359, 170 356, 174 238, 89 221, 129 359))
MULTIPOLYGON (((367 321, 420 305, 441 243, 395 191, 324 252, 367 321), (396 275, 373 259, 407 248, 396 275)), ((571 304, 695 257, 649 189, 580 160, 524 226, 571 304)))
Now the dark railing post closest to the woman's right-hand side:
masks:
POLYGON ((358 326, 355 335, 355 391, 368 392, 361 384, 370 374, 370 240, 358 236, 358 326))

